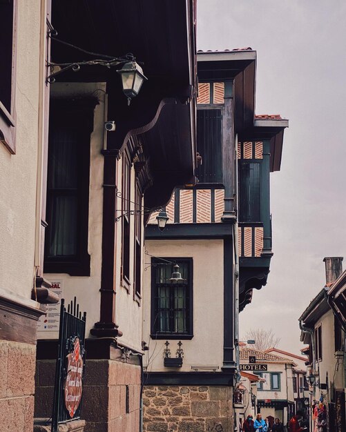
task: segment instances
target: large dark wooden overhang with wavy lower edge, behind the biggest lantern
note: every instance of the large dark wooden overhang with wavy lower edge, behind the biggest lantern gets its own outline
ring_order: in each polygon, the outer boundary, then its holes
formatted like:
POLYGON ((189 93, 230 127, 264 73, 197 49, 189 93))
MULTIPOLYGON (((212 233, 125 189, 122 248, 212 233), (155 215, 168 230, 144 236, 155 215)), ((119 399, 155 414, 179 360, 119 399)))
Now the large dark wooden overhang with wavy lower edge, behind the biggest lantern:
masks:
MULTIPOLYGON (((195 1, 194 0, 53 0, 52 26, 57 39, 90 52, 142 63, 145 81, 127 106, 115 68, 81 66, 57 77, 65 82, 106 82, 108 150, 122 150, 140 136, 153 184, 146 206, 166 204, 174 186, 193 183, 195 169, 195 1)), ((52 40, 52 61, 95 59, 52 40)), ((54 85, 54 84, 52 84, 54 85)))

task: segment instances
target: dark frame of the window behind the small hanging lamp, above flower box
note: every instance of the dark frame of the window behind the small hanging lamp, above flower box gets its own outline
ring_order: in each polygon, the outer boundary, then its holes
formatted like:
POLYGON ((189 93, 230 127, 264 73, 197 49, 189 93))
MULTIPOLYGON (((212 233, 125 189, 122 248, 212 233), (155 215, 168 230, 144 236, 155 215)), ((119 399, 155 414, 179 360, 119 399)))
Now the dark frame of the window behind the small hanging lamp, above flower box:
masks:
POLYGON ((188 257, 164 257, 171 262, 188 262, 189 263, 189 332, 188 333, 163 333, 155 331, 155 309, 156 284, 155 284, 155 266, 160 265, 162 260, 151 258, 151 339, 166 340, 191 340, 193 338, 193 258, 188 257))

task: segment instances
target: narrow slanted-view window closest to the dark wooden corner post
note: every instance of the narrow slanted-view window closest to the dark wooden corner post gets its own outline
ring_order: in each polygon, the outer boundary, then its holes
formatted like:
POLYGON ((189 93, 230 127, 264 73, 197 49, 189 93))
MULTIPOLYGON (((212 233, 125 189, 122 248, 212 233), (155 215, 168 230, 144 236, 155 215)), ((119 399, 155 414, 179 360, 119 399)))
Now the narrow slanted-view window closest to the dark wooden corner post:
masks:
POLYGON ((131 164, 126 152, 122 164, 122 279, 130 284, 131 164))

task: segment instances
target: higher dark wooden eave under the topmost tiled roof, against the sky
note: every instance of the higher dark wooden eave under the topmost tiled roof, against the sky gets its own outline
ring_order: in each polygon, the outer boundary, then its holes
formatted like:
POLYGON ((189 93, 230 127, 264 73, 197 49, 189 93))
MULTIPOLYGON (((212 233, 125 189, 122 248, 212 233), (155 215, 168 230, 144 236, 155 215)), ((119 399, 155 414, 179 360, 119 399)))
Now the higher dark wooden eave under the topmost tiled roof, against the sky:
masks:
POLYGON ((199 81, 234 80, 236 132, 253 126, 256 93, 256 51, 198 52, 199 81))

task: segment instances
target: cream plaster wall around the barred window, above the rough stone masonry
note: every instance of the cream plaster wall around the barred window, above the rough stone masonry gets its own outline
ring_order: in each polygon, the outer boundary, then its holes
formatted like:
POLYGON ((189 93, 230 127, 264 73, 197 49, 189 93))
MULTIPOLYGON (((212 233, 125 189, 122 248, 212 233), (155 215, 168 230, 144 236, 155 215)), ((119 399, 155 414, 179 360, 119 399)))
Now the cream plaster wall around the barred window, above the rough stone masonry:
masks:
MULTIPOLYGON (((191 366, 222 367, 223 347, 223 241, 222 240, 150 240, 150 255, 193 258, 193 339, 182 340, 184 361, 180 371, 191 366)), ((149 262, 149 261, 147 261, 149 262)), ((164 367, 166 340, 151 340, 151 271, 144 271, 144 340, 149 346, 144 366, 150 371, 170 371, 164 367), (149 359, 149 362, 148 362, 149 359)), ((230 311, 231 313, 231 311, 230 311)), ((170 340, 172 357, 177 340, 170 340)), ((176 369, 173 369, 176 371, 176 369)))

